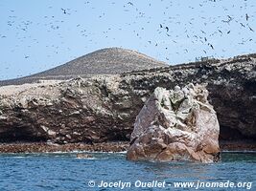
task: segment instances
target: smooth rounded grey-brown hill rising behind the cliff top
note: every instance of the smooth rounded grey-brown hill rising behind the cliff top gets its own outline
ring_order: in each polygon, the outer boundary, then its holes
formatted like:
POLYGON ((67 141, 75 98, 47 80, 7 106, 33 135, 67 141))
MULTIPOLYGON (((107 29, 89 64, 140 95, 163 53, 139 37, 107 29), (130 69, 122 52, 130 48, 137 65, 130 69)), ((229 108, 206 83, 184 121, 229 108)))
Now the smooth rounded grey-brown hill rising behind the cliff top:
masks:
POLYGON ((69 79, 78 75, 90 77, 95 74, 122 74, 163 66, 167 64, 143 53, 121 48, 106 48, 42 73, 0 81, 0 86, 32 83, 38 79, 69 79))

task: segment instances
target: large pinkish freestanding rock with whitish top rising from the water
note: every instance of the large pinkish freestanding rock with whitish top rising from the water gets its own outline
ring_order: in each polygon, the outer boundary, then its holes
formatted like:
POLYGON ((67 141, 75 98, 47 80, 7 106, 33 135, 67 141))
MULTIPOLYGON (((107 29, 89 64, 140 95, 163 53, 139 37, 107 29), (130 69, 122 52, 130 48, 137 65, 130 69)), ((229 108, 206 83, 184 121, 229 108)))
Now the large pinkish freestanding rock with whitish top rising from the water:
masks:
POLYGON ((156 88, 136 117, 130 160, 220 160, 220 126, 204 86, 156 88))

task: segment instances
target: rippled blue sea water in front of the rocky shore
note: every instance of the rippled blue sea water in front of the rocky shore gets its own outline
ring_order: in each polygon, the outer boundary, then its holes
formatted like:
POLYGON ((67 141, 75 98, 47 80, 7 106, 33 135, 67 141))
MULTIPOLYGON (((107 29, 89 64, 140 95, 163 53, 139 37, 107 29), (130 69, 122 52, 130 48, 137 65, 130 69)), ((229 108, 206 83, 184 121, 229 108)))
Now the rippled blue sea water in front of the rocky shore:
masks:
POLYGON ((0 154, 0 190, 256 190, 256 153, 222 153, 221 162, 209 164, 133 162, 124 153, 92 156, 0 154), (195 183, 175 188, 176 182, 195 183), (213 183, 222 187, 209 187, 213 183), (230 183, 235 187, 224 187, 230 183))

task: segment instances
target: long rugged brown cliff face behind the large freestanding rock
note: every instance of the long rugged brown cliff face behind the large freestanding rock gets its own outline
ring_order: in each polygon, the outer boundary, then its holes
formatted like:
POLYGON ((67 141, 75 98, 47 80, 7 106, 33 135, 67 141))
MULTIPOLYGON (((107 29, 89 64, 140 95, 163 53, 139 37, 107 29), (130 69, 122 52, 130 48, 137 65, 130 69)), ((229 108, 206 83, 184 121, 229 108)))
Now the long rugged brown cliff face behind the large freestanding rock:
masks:
POLYGON ((256 138, 256 56, 0 87, 0 140, 128 140, 156 87, 206 84, 220 138, 256 138))

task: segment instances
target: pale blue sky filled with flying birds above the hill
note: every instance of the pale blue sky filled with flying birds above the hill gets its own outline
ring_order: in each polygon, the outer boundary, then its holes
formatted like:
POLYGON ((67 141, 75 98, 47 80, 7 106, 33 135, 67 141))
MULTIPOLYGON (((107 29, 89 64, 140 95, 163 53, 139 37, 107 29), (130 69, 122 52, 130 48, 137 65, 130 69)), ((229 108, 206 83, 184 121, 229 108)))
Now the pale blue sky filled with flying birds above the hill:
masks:
POLYGON ((0 80, 120 47, 170 65, 256 53, 255 0, 1 0, 0 80))

